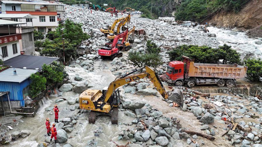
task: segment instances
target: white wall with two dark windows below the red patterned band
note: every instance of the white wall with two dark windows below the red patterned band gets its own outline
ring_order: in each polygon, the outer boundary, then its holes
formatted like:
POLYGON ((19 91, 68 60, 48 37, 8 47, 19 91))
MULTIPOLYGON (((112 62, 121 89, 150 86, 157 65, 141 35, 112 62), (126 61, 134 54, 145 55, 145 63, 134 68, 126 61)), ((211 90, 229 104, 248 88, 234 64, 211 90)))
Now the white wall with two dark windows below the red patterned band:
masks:
POLYGON ((8 57, 5 57, 4 61, 6 61, 6 60, 8 60, 10 58, 13 58, 15 56, 20 55, 19 41, 13 41, 13 42, 10 42, 10 43, 0 44, 0 55, 3 55, 2 49, 1 49, 1 47, 3 47, 3 46, 7 46, 7 53, 8 53, 8 57), (13 54, 13 46, 12 46, 12 44, 14 44, 14 43, 16 43, 16 46, 17 46, 17 53, 16 54, 13 54))

